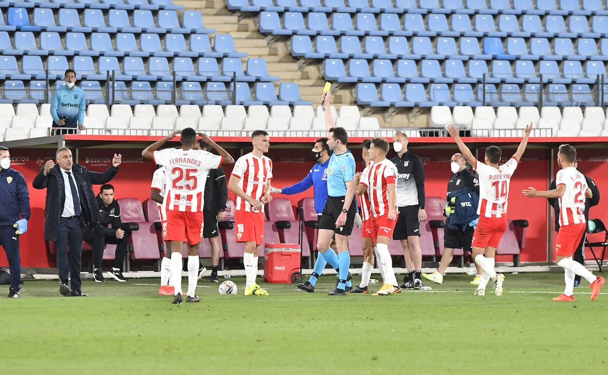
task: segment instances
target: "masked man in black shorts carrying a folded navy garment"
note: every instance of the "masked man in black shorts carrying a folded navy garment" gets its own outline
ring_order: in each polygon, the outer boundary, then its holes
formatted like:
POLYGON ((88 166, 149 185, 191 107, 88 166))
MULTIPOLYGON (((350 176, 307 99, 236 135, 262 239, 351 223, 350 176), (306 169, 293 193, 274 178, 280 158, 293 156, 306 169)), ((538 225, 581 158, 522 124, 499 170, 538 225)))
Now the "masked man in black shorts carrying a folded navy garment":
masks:
MULTIPOLYGON (((454 191, 469 188, 477 193, 479 196, 479 181, 477 177, 466 169, 466 159, 462 154, 457 153, 452 155, 450 159, 450 169, 452 170, 452 176, 450 181, 447 183, 447 194, 453 193, 454 191)), ((447 202, 446 212, 454 212, 453 202, 447 202)), ((452 263, 454 258, 454 249, 463 249, 465 252, 471 252, 471 243, 473 242, 473 232, 475 232, 474 225, 468 225, 465 230, 452 230, 449 229, 450 216, 446 218, 446 226, 443 229, 443 255, 441 255, 441 261, 439 268, 432 274, 422 274, 422 277, 426 280, 433 281, 434 283, 443 283, 443 275, 446 273, 446 268, 452 263)), ((482 270, 477 267, 477 275, 475 279, 471 281, 472 285, 479 284, 479 278, 482 275, 482 270)))

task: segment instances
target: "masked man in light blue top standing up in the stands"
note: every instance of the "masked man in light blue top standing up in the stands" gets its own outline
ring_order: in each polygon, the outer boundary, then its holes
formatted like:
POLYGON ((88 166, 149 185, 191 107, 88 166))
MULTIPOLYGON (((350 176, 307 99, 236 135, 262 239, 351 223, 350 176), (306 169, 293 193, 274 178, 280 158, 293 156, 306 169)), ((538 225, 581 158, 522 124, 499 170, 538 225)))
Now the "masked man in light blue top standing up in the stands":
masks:
MULTIPOLYGON (((67 69, 65 74, 66 84, 55 91, 50 101, 50 115, 53 117, 53 128, 62 128, 58 134, 70 134, 66 128, 85 129, 85 92, 75 86, 76 72, 67 69)), ((74 134, 71 131, 71 134, 74 134)))

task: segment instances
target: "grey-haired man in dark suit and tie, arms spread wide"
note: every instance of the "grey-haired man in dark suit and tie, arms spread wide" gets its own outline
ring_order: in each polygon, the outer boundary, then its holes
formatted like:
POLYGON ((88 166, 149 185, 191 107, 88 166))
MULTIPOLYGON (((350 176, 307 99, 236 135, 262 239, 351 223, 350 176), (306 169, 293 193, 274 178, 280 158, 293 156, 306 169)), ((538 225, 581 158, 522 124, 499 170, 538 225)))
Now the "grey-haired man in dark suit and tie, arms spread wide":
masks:
POLYGON ((112 165, 104 173, 91 172, 74 164, 72 152, 64 147, 55 154, 57 165, 49 160, 33 181, 36 189, 46 188, 44 208, 44 239, 57 246, 57 268, 61 280, 60 293, 85 296, 80 286, 83 227, 98 222, 98 208, 92 184, 109 182, 118 171, 122 156, 114 154, 112 165), (67 249, 69 251, 69 261, 67 249), (68 274, 72 291, 67 287, 68 274))

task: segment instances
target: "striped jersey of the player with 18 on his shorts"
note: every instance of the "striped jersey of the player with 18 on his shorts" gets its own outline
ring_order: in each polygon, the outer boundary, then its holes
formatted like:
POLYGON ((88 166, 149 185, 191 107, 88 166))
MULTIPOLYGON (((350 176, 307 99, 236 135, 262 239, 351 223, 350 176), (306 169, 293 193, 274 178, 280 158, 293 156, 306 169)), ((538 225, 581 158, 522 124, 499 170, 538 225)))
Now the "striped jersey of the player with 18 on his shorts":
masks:
MULTIPOLYGON (((232 169, 232 176, 238 177, 238 186, 243 189, 245 194, 251 196, 256 201, 260 201, 264 196, 266 184, 272 179, 272 160, 268 156, 254 156, 249 153, 238 158, 232 169)), ((246 212, 253 212, 249 202, 237 196, 235 209, 246 212)), ((264 207, 262 206, 262 212, 264 207)))

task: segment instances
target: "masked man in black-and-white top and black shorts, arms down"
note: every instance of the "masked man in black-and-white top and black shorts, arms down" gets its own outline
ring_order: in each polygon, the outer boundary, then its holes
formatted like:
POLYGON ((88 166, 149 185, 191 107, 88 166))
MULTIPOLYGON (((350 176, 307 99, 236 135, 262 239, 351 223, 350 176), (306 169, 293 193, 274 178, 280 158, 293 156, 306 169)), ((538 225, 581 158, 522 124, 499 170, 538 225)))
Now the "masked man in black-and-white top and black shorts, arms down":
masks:
POLYGON ((407 150, 407 136, 398 131, 393 137, 397 153, 390 161, 397 167, 397 208, 399 217, 393 239, 401 241, 403 256, 409 270, 403 278, 402 289, 421 289, 422 250, 420 222, 426 220, 424 211, 424 165, 420 157, 407 150))

